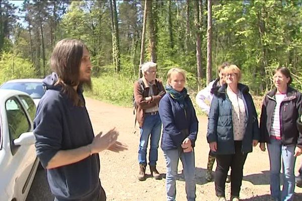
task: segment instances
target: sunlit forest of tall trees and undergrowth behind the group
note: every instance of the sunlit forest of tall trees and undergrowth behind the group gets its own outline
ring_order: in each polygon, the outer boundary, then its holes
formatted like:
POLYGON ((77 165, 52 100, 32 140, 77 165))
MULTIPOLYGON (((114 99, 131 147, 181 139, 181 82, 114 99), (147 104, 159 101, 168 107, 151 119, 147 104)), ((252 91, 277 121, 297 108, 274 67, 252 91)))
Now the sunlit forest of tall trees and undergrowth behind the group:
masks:
MULTIPOLYGON (((253 94, 273 87, 278 66, 302 89, 302 1, 0 1, 0 84, 51 72, 49 58, 63 38, 83 40, 93 63, 91 95, 131 103, 145 61, 187 71, 195 93, 224 61, 238 65, 253 94)), ((126 104, 125 104, 126 103, 126 104)))

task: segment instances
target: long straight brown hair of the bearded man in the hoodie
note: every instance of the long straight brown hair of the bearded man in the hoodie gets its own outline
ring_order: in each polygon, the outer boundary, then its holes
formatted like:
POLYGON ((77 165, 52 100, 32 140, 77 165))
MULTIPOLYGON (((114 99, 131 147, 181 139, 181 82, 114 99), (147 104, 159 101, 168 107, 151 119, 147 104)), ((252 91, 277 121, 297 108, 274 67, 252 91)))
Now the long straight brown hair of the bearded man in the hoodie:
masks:
POLYGON ((83 100, 73 86, 80 84, 80 66, 83 50, 87 46, 77 39, 63 39, 52 51, 50 58, 51 69, 57 73, 55 85, 62 86, 62 92, 72 100, 74 106, 84 106, 83 100))

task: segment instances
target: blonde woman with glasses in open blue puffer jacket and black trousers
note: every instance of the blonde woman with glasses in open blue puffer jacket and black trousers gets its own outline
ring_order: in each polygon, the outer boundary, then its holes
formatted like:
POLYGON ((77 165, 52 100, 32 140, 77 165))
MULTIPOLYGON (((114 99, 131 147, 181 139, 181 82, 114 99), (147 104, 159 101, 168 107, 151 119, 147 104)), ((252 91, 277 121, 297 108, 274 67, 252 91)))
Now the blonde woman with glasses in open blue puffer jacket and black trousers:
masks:
POLYGON ((236 65, 223 69, 226 84, 211 102, 207 141, 216 154, 215 191, 225 201, 225 180, 231 167, 231 201, 238 201, 243 166, 248 153, 258 144, 257 113, 249 87, 239 83, 241 71, 236 65))

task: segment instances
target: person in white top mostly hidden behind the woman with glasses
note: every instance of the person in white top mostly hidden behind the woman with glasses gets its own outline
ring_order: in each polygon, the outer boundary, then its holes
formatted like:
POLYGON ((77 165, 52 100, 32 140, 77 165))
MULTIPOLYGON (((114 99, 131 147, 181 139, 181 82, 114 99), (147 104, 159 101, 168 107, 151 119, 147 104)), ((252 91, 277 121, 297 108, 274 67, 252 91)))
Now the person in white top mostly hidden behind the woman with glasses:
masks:
MULTIPOLYGON (((223 69, 225 66, 229 66, 230 64, 228 62, 222 63, 218 67, 218 78, 211 81, 204 89, 200 90, 197 95, 196 95, 196 104, 201 108, 201 111, 206 113, 207 115, 210 112, 210 104, 212 101, 212 98, 214 96, 214 91, 218 90, 218 88, 224 84, 224 74, 223 74, 223 69)), ((212 169, 213 165, 215 162, 215 155, 211 150, 209 151, 209 156, 208 156, 208 163, 207 163, 207 171, 205 174, 205 179, 207 181, 212 180, 212 169)), ((226 179, 226 182, 230 182, 230 177, 226 179)))

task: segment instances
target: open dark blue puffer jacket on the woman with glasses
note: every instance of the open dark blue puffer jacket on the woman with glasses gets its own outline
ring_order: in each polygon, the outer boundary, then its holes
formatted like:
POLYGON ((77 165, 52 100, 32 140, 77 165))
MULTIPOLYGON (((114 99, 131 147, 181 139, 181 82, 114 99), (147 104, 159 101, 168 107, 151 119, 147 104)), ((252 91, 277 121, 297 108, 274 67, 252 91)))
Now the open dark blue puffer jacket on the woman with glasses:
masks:
MULTIPOLYGON (((226 87, 222 85, 211 102, 208 116, 207 141, 217 142, 217 154, 235 154, 232 103, 226 94, 226 87)), ((253 140, 259 140, 260 131, 258 126, 257 113, 249 87, 238 84, 238 89, 244 97, 247 119, 245 121, 245 134, 242 140, 242 152, 249 153, 253 150, 253 140)))

